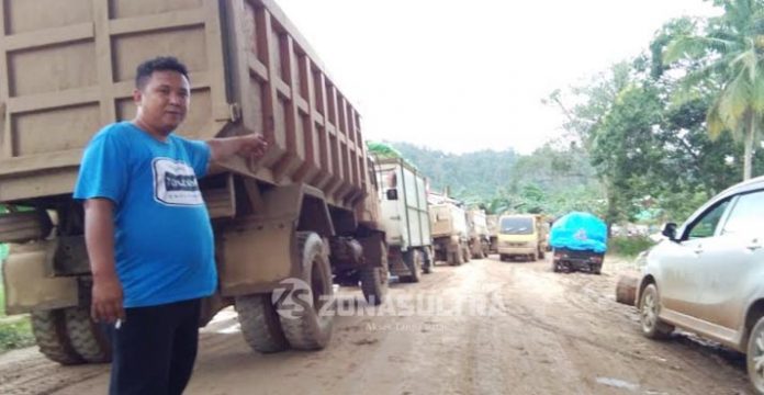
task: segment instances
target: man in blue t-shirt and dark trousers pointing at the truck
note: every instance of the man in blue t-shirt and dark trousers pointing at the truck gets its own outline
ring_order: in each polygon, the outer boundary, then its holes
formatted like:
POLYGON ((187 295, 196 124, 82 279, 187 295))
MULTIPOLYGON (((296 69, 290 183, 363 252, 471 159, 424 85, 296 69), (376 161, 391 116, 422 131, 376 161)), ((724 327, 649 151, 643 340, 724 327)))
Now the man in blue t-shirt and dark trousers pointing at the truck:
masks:
POLYGON ((92 317, 112 330, 111 394, 181 394, 191 377, 200 298, 217 284, 213 235, 196 179, 210 161, 261 157, 259 135, 188 140, 190 82, 171 57, 137 68, 132 122, 105 126, 85 151, 92 317))

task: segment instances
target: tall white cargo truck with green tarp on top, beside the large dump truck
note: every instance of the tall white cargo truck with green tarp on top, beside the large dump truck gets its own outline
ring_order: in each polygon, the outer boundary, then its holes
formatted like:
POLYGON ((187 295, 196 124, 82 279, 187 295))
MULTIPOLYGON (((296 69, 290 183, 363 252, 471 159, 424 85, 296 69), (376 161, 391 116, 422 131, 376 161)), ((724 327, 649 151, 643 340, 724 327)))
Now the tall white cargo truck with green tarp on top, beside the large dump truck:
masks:
POLYGON ((375 169, 390 271, 402 282, 419 282, 432 270, 427 179, 401 158, 378 158, 375 169))

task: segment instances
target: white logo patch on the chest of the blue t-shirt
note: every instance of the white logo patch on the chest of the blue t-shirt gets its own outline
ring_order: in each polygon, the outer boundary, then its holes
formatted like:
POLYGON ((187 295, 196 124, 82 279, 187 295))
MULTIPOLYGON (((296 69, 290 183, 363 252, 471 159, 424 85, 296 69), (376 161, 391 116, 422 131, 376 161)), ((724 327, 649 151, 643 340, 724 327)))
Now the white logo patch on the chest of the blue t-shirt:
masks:
POLYGON ((156 158, 154 168, 154 199, 167 205, 204 204, 196 173, 182 161, 156 158))

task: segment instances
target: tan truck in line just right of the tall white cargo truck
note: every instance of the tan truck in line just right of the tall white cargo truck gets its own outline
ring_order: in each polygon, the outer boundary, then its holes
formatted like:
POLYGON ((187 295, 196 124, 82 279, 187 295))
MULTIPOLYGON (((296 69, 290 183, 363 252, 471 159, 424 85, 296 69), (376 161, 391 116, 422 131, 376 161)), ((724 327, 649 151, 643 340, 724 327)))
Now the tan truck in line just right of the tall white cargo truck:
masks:
POLYGON ((430 193, 428 195, 435 259, 451 266, 470 261, 467 212, 460 202, 430 193))

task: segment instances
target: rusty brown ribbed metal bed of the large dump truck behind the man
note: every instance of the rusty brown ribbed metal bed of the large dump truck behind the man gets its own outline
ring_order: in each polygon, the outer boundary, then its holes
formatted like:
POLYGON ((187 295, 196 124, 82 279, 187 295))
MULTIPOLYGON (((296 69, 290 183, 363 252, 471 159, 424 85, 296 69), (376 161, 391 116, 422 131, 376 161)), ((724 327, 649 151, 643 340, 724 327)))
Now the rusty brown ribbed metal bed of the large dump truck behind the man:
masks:
POLYGON ((158 55, 190 69, 180 135, 271 143, 227 170, 346 208, 367 193, 360 116, 272 0, 2 0, 0 13, 0 202, 71 193, 83 147, 133 117, 135 67, 158 55))

